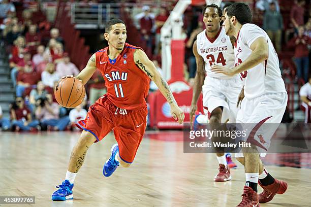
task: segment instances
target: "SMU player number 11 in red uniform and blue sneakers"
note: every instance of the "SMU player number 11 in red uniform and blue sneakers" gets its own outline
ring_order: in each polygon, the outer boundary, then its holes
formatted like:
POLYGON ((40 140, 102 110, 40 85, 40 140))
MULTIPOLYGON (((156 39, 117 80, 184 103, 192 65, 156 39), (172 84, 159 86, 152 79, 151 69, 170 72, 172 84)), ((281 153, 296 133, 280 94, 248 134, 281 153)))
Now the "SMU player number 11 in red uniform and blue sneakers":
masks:
POLYGON ((74 179, 87 150, 111 130, 117 144, 112 146, 111 156, 104 164, 104 176, 111 176, 119 165, 131 165, 147 124, 145 98, 149 91, 149 79, 166 97, 174 119, 178 119, 179 124, 184 119, 167 82, 152 61, 141 48, 126 43, 125 23, 120 19, 108 21, 104 37, 108 47, 92 55, 76 79, 86 84, 98 68, 105 79, 107 93, 90 106, 84 120, 76 123, 83 131, 72 150, 65 181, 56 186, 59 189, 52 194, 52 200, 73 199, 74 179))

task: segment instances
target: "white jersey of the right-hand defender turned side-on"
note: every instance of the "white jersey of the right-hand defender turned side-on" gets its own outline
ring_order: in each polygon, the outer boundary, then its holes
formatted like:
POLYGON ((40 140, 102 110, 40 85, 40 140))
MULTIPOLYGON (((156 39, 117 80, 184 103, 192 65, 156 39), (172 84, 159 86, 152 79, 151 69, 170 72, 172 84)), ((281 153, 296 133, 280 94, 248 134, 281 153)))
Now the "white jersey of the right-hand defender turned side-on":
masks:
POLYGON ((260 37, 266 38, 269 57, 255 67, 239 74, 244 82, 246 98, 255 98, 265 93, 286 92, 278 65, 277 54, 268 34, 255 24, 243 24, 234 46, 235 66, 245 61, 253 52, 251 45, 260 37))

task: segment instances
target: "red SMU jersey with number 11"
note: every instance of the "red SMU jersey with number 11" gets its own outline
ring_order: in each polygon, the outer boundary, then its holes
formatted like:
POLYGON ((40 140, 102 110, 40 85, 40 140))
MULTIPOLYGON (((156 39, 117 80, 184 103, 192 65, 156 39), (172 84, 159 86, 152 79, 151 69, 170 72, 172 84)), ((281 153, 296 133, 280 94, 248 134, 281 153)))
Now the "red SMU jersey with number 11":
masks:
POLYGON ((141 48, 126 43, 114 60, 108 57, 108 49, 96 52, 96 66, 105 79, 107 98, 116 107, 127 110, 146 104, 150 80, 134 62, 134 52, 141 48))

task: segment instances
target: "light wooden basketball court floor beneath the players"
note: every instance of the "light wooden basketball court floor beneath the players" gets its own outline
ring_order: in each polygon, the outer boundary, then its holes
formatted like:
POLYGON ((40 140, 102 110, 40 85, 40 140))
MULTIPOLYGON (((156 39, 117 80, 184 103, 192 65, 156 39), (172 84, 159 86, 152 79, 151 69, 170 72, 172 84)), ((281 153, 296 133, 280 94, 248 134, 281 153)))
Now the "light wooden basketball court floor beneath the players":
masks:
MULTIPOLYGON (((118 167, 105 178, 102 167, 115 142, 112 133, 88 150, 74 183, 74 199, 52 201, 78 136, 73 132, 0 132, 0 196, 36 196, 36 204, 0 206, 201 207, 236 206, 241 201, 245 179, 241 165, 232 170, 232 181, 215 183, 213 154, 183 154, 182 142, 149 139, 148 134, 132 166, 118 167)), ((267 169, 287 181, 289 188, 261 206, 310 206, 311 169, 273 165, 267 169)))

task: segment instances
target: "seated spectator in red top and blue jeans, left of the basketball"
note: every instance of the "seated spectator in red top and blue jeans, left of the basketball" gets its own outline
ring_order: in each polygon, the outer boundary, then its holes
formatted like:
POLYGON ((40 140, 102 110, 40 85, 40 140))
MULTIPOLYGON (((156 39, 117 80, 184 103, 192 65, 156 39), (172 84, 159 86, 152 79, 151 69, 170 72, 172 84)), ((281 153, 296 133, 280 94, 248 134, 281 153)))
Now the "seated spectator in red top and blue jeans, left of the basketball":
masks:
POLYGON ((40 79, 40 75, 34 71, 32 62, 25 62, 24 67, 21 67, 17 74, 16 96, 21 97, 27 87, 36 87, 40 79))

